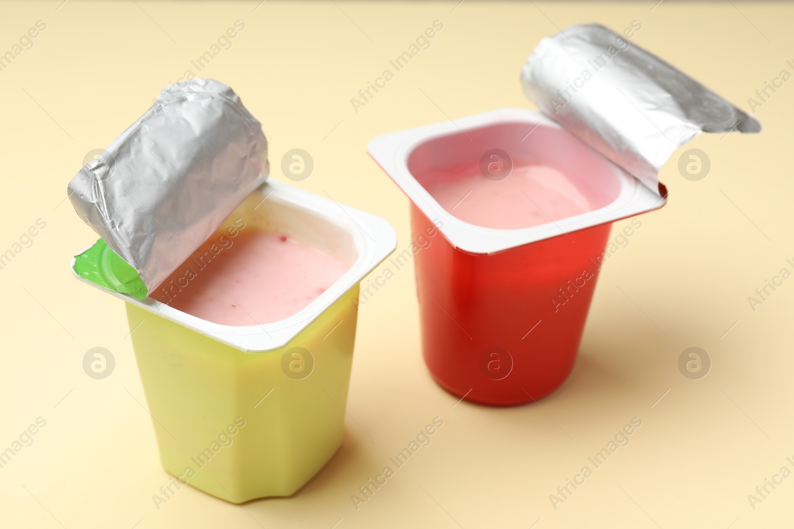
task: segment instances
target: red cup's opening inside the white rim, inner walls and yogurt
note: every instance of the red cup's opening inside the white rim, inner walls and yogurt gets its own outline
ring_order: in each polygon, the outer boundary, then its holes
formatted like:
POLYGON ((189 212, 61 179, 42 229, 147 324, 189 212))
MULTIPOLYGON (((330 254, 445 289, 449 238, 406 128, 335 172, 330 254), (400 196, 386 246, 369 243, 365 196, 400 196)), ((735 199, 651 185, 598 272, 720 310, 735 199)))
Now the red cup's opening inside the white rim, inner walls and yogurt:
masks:
POLYGON ((610 205, 615 167, 565 129, 507 121, 434 137, 407 167, 441 208, 482 228, 522 229, 610 205))

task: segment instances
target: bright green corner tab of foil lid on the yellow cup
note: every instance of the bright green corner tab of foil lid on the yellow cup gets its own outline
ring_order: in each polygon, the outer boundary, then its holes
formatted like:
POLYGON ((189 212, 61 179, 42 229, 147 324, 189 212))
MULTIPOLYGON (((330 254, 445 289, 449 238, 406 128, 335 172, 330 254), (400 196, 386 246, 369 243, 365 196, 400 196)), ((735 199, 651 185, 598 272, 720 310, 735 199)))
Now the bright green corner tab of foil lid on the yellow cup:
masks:
POLYGON ((146 286, 138 273, 102 239, 75 255, 75 273, 102 288, 146 299, 146 286))

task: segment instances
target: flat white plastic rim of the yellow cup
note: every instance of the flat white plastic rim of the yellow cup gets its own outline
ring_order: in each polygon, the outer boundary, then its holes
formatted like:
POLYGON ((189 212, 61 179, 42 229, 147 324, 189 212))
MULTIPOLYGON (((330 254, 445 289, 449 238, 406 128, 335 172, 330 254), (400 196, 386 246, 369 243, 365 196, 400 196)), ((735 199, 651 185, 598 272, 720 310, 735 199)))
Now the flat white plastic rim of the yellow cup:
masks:
MULTIPOLYGON (((273 351, 290 343, 306 327, 335 303, 345 292, 356 286, 367 274, 375 269, 397 247, 397 234, 386 220, 364 213, 358 209, 341 205, 328 198, 319 197, 308 191, 299 190, 283 182, 268 180, 253 192, 263 200, 280 202, 303 209, 318 221, 336 224, 353 238, 358 257, 349 270, 329 289, 320 294, 309 305, 292 316, 270 324, 236 327, 215 324, 191 316, 187 312, 174 309, 160 301, 147 297, 138 300, 129 294, 116 293, 97 286, 75 273, 75 259, 71 261, 71 272, 76 278, 107 293, 113 294, 128 303, 148 310, 158 316, 183 325, 202 335, 217 339, 232 347, 246 352, 273 351)), ((82 253, 82 252, 81 252, 82 253)))

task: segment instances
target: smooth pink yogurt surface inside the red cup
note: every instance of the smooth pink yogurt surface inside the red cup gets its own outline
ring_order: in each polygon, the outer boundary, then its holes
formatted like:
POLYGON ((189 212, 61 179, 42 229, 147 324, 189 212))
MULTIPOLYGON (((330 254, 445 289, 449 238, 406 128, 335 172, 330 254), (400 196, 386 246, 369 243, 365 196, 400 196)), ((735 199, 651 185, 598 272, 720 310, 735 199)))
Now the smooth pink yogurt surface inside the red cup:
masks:
POLYGON ((514 167, 499 182, 474 167, 425 188, 449 213, 484 228, 531 228, 593 209, 565 174, 542 165, 514 167))

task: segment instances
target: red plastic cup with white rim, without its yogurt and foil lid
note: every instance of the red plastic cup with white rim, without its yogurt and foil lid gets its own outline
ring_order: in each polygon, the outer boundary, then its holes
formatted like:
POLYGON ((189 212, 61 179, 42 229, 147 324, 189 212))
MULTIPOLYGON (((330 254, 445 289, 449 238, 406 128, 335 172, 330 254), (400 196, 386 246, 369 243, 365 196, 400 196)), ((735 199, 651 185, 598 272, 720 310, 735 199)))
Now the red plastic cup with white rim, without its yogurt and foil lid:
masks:
POLYGON ((368 150, 410 198, 414 240, 442 235, 414 258, 422 352, 437 383, 499 406, 557 389, 576 361, 611 223, 663 205, 664 193, 527 110, 379 136, 368 150), (495 149, 511 166, 569 175, 593 210, 530 228, 485 228, 455 217, 426 190, 495 149))

